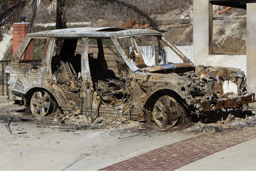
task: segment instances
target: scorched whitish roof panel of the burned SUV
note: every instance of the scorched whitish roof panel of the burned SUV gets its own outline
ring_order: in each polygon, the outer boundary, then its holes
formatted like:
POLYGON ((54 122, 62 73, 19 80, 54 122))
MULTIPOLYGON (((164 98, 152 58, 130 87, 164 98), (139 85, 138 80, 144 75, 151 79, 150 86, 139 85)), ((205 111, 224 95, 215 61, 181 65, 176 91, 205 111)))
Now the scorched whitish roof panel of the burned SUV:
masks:
POLYGON ((132 35, 160 35, 158 31, 148 29, 123 29, 113 27, 82 27, 46 30, 29 33, 27 37, 123 37, 132 35))

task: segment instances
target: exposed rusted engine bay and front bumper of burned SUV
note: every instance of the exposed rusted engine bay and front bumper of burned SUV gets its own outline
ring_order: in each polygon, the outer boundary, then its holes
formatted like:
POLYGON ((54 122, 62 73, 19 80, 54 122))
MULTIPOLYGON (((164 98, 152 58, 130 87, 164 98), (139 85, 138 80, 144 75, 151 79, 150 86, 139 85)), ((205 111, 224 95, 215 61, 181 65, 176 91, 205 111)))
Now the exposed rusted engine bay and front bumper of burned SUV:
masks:
POLYGON ((239 69, 197 66, 195 73, 190 72, 186 76, 194 79, 190 86, 190 94, 194 98, 195 108, 199 109, 200 113, 254 102, 254 95, 246 91, 245 74, 239 69), (224 93, 225 81, 236 84, 237 93, 224 93))

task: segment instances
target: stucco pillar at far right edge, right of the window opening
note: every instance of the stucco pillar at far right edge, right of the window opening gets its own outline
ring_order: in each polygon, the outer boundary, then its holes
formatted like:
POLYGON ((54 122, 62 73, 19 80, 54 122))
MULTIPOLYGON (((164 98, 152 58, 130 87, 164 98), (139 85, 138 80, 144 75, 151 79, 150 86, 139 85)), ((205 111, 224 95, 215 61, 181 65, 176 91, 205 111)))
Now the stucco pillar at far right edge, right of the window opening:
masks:
MULTIPOLYGON (((256 3, 247 3, 246 76, 248 92, 256 93, 256 3)), ((256 103, 253 104, 256 107, 256 103)))

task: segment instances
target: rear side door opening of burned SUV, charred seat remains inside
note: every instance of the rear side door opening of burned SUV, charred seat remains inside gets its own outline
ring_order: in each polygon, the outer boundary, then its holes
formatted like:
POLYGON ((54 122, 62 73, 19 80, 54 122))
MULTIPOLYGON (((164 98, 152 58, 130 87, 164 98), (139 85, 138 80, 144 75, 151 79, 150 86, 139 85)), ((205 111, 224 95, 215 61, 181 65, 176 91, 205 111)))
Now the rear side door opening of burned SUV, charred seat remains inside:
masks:
POLYGON ((81 43, 82 39, 57 39, 51 61, 52 74, 71 104, 80 102, 81 43))

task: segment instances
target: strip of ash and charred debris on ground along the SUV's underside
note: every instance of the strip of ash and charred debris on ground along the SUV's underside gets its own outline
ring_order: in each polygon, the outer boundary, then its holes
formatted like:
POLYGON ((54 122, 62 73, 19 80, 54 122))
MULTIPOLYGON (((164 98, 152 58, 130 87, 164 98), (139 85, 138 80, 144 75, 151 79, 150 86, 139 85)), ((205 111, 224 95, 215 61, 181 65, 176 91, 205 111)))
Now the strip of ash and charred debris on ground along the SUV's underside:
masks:
MULTIPOLYGON (((10 124, 11 130, 13 124, 22 125, 24 122, 29 122, 31 124, 36 124, 37 127, 49 127, 58 129, 61 132, 73 132, 74 134, 79 133, 81 130, 97 131, 99 129, 114 129, 122 132, 139 132, 145 135, 150 132, 182 132, 187 134, 212 133, 220 132, 228 128, 246 128, 246 126, 256 124, 256 110, 250 107, 244 108, 239 115, 236 115, 239 117, 234 117, 231 114, 226 120, 219 120, 215 123, 206 124, 200 121, 197 123, 187 121, 184 124, 166 128, 159 127, 155 122, 133 121, 118 116, 110 118, 98 117, 91 123, 90 117, 86 118, 82 115, 63 118, 62 115, 59 116, 58 113, 53 113, 46 117, 35 117, 31 114, 27 114, 25 110, 26 109, 23 108, 19 110, 11 110, 10 112, 0 112, 0 121, 8 127, 8 122, 13 117, 10 124)), ((25 129, 13 131, 26 132, 25 129)))

